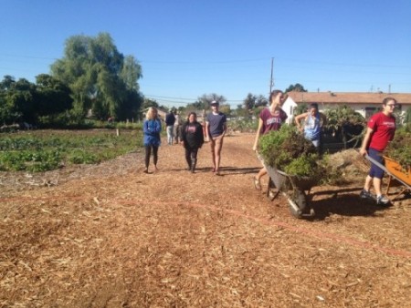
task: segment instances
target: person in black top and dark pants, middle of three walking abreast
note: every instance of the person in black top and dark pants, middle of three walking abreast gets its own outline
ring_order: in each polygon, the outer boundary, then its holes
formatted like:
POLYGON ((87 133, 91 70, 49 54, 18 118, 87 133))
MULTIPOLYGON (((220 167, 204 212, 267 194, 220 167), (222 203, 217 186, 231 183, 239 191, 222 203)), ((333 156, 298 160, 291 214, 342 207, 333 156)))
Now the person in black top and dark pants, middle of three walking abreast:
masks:
POLYGON ((198 149, 204 143, 203 126, 197 122, 195 112, 190 112, 188 115, 188 119, 181 129, 181 139, 185 149, 185 161, 187 161, 188 169, 195 173, 198 149))

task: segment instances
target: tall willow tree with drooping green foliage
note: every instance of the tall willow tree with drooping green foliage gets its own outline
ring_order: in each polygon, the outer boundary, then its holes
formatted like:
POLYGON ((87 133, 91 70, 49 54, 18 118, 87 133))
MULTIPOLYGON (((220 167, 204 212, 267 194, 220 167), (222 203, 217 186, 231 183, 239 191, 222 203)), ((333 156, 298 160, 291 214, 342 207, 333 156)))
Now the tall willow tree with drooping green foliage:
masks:
POLYGON ((133 56, 123 56, 107 33, 69 37, 51 72, 70 87, 80 116, 91 109, 96 118, 133 118, 142 104, 137 83, 142 67, 133 56))

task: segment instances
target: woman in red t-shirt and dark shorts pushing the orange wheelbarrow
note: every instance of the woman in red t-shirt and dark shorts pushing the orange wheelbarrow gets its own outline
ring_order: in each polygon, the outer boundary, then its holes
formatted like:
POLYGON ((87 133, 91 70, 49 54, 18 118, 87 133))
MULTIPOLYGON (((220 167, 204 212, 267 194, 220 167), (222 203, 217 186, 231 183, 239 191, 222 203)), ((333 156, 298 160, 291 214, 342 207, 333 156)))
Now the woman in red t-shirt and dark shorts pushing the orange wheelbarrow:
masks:
MULTIPOLYGON (((383 110, 374 114, 367 124, 367 130, 360 149, 361 155, 368 154, 370 158, 384 165, 383 152, 388 142, 394 139, 395 117, 394 109, 395 98, 384 98, 383 110)), ((384 177, 384 170, 371 164, 370 172, 365 178, 364 190, 361 191, 362 199, 375 199, 379 205, 387 205, 390 200, 381 193, 381 180, 384 177), (374 185, 375 197, 371 194, 371 184, 374 185)))

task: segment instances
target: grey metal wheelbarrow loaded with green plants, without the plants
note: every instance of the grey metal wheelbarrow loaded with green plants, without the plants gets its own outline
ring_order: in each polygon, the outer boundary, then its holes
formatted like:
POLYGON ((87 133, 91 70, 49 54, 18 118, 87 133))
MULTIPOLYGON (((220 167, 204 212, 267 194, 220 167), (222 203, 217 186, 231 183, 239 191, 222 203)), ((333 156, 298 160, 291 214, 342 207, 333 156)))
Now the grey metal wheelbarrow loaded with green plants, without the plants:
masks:
POLYGON ((292 216, 296 218, 312 217, 315 212, 309 206, 311 188, 318 183, 318 179, 289 175, 263 162, 269 174, 269 190, 267 196, 270 200, 278 197, 279 192, 287 198, 292 216))

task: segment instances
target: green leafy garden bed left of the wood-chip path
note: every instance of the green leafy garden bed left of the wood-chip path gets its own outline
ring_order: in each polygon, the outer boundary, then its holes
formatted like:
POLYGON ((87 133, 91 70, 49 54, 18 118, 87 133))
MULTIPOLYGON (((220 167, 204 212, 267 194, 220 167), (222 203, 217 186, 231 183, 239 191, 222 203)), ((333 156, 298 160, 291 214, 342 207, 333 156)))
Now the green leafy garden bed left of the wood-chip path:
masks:
POLYGON ((142 144, 138 130, 37 130, 3 134, 0 170, 30 172, 70 164, 94 164, 131 152, 142 144))

